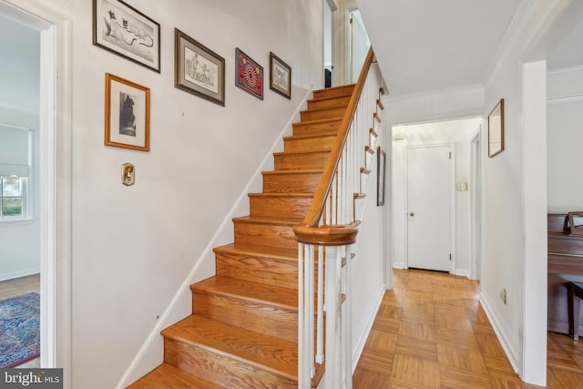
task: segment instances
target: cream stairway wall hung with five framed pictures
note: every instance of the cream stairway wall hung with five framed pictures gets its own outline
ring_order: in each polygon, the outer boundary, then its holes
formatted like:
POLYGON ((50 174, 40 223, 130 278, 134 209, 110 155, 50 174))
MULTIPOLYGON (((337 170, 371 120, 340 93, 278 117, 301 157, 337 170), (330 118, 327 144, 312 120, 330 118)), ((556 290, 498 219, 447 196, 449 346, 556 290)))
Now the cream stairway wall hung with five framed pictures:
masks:
MULTIPOLYGON (((72 386, 115 387, 194 266, 191 281, 213 273, 207 245, 306 89, 321 86, 322 4, 130 1, 161 25, 158 74, 91 45, 91 2, 28 3, 70 20, 72 386), (226 107, 174 87, 175 27, 225 58, 226 107), (234 87, 236 46, 266 70, 264 101, 234 87), (292 101, 269 90, 270 51, 292 67, 292 101), (106 72, 151 89, 149 152, 103 145, 106 72), (124 162, 133 187, 120 183, 124 162)), ((188 310, 180 301, 170 316, 188 310)))

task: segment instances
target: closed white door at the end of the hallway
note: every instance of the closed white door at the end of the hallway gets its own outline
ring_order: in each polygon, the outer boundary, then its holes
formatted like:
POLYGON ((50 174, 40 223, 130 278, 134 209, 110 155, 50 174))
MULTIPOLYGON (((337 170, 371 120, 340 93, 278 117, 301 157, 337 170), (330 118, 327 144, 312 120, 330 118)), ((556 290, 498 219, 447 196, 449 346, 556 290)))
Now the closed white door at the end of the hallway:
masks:
POLYGON ((407 266, 452 271, 452 148, 407 148, 407 266))

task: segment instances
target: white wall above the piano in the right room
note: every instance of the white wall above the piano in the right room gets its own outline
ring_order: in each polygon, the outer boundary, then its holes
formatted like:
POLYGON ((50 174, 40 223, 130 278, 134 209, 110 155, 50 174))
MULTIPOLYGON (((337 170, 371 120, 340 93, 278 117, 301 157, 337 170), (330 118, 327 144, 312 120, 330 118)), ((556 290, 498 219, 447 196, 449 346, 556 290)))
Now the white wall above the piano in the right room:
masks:
POLYGON ((548 210, 583 209, 581 145, 583 145, 583 68, 548 72, 547 78, 548 210))

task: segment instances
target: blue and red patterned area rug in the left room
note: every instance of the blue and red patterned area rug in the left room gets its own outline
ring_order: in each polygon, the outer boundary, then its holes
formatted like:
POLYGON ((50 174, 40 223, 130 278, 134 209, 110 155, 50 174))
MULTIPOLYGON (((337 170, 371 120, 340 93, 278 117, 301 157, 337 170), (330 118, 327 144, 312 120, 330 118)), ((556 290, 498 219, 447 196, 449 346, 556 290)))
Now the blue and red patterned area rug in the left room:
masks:
POLYGON ((40 356, 40 295, 36 292, 0 301, 0 368, 40 356))

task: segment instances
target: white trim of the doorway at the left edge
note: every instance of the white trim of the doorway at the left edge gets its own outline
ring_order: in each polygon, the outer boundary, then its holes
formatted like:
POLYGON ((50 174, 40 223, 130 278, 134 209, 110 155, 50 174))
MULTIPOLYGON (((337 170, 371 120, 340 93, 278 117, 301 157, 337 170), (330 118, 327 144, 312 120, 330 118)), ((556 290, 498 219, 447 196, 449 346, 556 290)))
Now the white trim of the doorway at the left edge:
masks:
POLYGON ((41 366, 63 368, 71 387, 71 28, 31 0, 0 0, 0 13, 40 32, 41 366))

